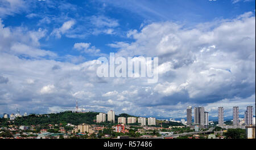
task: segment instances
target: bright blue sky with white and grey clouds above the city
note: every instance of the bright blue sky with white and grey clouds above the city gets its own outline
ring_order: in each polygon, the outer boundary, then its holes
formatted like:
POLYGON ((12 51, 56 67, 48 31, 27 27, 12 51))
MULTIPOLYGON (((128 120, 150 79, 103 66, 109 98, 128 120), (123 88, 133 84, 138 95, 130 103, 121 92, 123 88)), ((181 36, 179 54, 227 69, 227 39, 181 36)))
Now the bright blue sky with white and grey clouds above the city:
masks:
POLYGON ((211 117, 255 109, 255 1, 0 1, 0 114, 211 117), (159 80, 99 78, 97 58, 158 57, 159 80))

